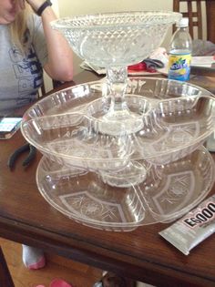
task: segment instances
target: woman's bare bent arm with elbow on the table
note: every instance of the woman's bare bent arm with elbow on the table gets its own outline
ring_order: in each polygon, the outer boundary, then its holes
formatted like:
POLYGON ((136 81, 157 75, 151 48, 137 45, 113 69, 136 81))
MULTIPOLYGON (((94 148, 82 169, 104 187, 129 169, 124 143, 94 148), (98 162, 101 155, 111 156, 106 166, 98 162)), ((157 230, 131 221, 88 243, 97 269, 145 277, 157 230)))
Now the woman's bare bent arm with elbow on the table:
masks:
MULTIPOLYGON (((45 0, 26 0, 37 11, 45 0)), ((22 7, 24 8, 24 4, 22 7)), ((51 6, 43 11, 42 23, 46 37, 48 61, 44 69, 49 77, 60 81, 70 81, 73 77, 73 53, 67 43, 67 39, 50 26, 50 22, 56 20, 56 15, 51 6)))

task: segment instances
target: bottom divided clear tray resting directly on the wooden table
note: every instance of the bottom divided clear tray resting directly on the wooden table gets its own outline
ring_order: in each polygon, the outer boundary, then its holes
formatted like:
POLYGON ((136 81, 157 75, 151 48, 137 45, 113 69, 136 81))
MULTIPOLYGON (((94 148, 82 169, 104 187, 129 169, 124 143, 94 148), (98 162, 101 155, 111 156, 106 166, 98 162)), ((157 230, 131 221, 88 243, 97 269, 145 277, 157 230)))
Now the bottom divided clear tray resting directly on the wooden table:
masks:
POLYGON ((105 231, 176 220, 195 207, 214 183, 214 162, 204 147, 183 159, 151 165, 145 180, 111 187, 99 174, 67 168, 43 157, 36 182, 46 201, 78 223, 105 231))

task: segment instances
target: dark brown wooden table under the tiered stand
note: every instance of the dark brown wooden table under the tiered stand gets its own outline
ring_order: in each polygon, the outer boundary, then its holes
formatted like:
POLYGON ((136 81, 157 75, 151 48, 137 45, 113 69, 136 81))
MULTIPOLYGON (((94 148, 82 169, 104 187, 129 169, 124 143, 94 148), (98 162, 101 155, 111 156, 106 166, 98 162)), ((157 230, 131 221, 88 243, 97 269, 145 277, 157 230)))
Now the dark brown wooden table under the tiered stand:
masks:
MULTIPOLYGON (((87 75, 82 81, 90 77, 95 76, 87 75)), ((0 142, 1 237, 156 286, 215 286, 214 236, 185 256, 159 236, 168 224, 143 226, 131 232, 98 231, 77 224, 53 209, 37 190, 39 152, 28 169, 21 166, 22 159, 12 172, 7 168, 9 155, 24 143, 20 132, 0 142)), ((211 190, 214 192, 215 187, 211 190)), ((12 286, 6 279, 1 284, 12 286)))

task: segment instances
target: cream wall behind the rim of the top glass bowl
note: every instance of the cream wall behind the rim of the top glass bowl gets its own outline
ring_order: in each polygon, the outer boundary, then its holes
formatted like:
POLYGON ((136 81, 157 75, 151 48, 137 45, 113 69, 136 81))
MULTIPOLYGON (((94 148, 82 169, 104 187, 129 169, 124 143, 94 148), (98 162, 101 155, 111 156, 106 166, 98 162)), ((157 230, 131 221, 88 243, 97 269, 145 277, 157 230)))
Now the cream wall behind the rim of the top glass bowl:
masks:
MULTIPOLYGON (((172 0, 58 0, 60 17, 86 15, 102 12, 138 11, 138 10, 172 10, 172 0)), ((166 39, 171 36, 171 29, 166 39)), ((167 46, 165 40, 162 46, 167 46)), ((79 64, 82 59, 74 56, 75 75, 80 72, 79 64)))

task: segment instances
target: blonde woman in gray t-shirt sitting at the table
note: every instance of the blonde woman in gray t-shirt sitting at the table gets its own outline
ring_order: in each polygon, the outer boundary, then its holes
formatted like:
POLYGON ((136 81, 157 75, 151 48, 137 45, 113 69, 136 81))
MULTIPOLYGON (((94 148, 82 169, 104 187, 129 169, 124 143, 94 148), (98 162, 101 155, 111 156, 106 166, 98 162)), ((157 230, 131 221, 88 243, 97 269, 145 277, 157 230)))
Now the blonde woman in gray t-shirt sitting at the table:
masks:
MULTIPOLYGON (((36 100, 43 69, 53 79, 72 79, 72 50, 50 26, 55 19, 49 0, 0 0, 0 115, 36 100)), ((23 261, 30 269, 45 265, 43 251, 25 245, 23 261)))

